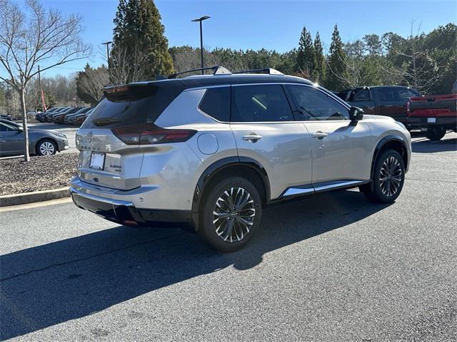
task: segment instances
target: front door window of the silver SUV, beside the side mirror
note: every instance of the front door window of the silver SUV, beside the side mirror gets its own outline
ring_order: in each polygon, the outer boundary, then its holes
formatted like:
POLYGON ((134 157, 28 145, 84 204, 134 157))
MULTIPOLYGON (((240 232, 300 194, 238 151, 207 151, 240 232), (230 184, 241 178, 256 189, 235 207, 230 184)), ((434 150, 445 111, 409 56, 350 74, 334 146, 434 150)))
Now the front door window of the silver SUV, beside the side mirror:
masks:
POLYGON ((331 96, 308 86, 288 86, 299 110, 299 120, 348 120, 349 110, 331 96))

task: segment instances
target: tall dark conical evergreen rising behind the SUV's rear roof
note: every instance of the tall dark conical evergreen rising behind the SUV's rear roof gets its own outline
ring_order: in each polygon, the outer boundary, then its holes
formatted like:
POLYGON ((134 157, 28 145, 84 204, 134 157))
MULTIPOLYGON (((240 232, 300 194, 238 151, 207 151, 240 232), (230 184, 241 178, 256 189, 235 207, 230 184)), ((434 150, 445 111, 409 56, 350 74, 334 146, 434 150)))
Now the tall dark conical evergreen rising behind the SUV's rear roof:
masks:
POLYGON ((132 65, 138 61, 138 53, 146 55, 146 63, 142 68, 145 69, 144 75, 147 78, 173 72, 168 40, 164 36, 161 16, 153 0, 119 0, 114 24, 113 48, 125 51, 127 58, 135 58, 132 65))

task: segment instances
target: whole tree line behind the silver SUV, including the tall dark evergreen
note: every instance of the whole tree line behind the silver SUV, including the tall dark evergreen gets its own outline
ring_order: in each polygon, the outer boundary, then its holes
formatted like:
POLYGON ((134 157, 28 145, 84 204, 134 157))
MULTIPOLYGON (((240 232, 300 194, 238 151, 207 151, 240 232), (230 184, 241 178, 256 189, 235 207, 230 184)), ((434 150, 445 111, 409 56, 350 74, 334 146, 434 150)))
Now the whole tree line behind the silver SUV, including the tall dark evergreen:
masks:
MULTIPOLYGON (((87 65, 76 76, 77 94, 86 103, 98 102, 100 88, 107 84, 153 80, 200 67, 199 48, 169 48, 154 1, 119 0, 114 25, 108 67, 87 65)), ((204 49, 204 60, 206 66, 221 65, 233 72, 275 68, 334 91, 385 84, 411 86, 423 93, 449 93, 457 75, 457 26, 439 26, 426 34, 414 33, 411 24, 406 38, 388 32, 344 43, 335 25, 331 44, 324 51, 319 33, 311 36, 303 27, 298 45, 291 51, 204 49)))

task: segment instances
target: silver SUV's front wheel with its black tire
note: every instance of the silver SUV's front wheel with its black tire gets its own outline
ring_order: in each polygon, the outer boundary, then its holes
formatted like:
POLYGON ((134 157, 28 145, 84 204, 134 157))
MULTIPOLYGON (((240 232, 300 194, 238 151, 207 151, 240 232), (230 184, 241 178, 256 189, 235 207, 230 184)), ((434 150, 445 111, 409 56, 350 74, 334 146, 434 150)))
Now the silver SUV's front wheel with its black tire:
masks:
POLYGON ((361 192, 371 202, 392 203, 403 189, 405 164, 396 150, 386 150, 375 162, 373 170, 373 189, 371 185, 360 187, 361 192))

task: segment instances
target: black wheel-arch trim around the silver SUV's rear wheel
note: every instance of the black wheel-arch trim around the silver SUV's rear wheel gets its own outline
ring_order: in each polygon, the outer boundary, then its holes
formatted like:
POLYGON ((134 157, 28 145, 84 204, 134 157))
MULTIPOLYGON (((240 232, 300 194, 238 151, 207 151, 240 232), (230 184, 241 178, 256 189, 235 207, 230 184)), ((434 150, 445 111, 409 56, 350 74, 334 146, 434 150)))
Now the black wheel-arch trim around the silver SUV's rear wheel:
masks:
POLYGON ((209 183, 211 178, 219 171, 224 170, 226 167, 231 166, 247 166, 261 177, 263 186, 265 187, 266 202, 270 199, 270 181, 266 170, 259 162, 249 157, 226 157, 209 165, 206 170, 201 174, 199 181, 194 190, 194 197, 192 199, 192 220, 194 221, 195 231, 199 227, 199 208, 201 204, 201 195, 204 192, 205 186, 209 183))

